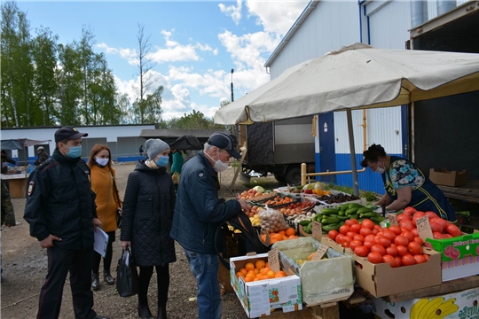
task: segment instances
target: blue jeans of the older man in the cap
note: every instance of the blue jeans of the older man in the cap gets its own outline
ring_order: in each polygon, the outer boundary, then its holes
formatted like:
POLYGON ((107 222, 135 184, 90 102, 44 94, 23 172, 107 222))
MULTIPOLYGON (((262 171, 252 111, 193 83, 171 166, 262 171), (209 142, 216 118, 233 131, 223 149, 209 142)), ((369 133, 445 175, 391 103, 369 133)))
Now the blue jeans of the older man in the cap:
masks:
POLYGON ((187 250, 185 250, 185 254, 198 287, 198 318, 220 319, 221 298, 218 281, 218 256, 187 250))

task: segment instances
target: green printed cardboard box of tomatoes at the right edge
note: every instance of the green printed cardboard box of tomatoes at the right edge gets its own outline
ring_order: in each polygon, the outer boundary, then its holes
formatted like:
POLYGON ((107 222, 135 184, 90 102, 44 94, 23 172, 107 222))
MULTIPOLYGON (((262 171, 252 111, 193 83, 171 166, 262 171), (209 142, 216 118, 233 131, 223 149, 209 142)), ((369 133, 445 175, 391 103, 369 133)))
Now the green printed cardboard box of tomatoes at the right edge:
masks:
POLYGON ((467 256, 479 256, 479 232, 445 239, 428 237, 424 245, 441 253, 443 261, 455 261, 467 256))

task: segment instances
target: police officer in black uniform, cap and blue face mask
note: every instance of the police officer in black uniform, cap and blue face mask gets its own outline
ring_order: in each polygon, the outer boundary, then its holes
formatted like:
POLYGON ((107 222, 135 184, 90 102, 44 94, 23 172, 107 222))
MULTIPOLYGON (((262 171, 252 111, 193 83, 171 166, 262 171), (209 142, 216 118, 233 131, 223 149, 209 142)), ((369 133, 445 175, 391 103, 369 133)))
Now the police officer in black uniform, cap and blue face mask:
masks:
POLYGON ((90 290, 93 231, 97 218, 90 168, 80 159, 82 136, 66 126, 55 132, 51 159, 35 168, 28 178, 25 220, 30 235, 47 248, 48 273, 40 291, 37 318, 58 318, 63 286, 70 271, 75 318, 107 319, 92 309, 90 290))

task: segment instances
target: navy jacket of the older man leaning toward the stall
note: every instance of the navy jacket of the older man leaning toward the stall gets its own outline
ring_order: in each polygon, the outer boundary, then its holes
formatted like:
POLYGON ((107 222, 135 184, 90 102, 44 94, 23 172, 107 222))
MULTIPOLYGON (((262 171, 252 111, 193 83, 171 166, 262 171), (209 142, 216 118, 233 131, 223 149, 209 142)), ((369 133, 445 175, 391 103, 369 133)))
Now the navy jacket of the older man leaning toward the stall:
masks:
POLYGON ((241 213, 238 200, 218 198, 216 176, 203 151, 183 167, 171 237, 188 251, 216 254, 216 229, 241 213))

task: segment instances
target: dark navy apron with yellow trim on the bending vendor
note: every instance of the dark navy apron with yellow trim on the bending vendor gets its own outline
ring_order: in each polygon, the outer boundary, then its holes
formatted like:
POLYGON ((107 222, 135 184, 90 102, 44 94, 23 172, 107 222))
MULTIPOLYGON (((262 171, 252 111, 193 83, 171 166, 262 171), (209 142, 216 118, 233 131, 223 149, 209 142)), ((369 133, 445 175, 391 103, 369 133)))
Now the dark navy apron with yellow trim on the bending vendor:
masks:
MULTIPOLYGON (((397 156, 391 156, 391 159, 389 163, 393 163, 399 158, 397 156)), ((456 221, 456 214, 454 214, 454 211, 452 210, 451 204, 449 204, 449 201, 447 198, 444 196, 443 191, 439 190, 439 188, 432 183, 428 177, 426 177, 422 171, 416 167, 414 164, 412 164, 411 161, 404 159, 411 167, 414 167, 418 170, 419 174, 424 177, 424 183, 422 183, 419 186, 416 186, 414 190, 412 190, 412 197, 411 201, 409 202, 409 206, 414 207, 416 210, 421 211, 421 212, 435 212, 438 214, 441 218, 444 218, 445 220, 455 222, 456 221)), ((391 171, 391 167, 389 164, 389 170, 388 172, 385 172, 381 174, 382 177, 382 182, 384 183, 384 189, 388 193, 389 197, 392 198, 393 200, 397 199, 397 192, 394 189, 389 172, 391 171)))

